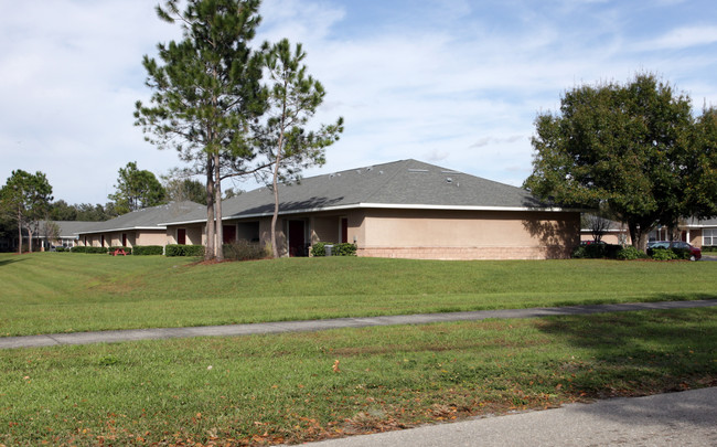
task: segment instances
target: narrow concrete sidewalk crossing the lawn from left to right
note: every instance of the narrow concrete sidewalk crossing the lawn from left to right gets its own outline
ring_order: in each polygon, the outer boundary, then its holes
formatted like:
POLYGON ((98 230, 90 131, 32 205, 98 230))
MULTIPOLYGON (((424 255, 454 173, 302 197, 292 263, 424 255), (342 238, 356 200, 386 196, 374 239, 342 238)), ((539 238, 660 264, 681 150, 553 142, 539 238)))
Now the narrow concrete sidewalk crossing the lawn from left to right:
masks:
POLYGON ((260 333, 311 332, 338 328, 426 324, 446 321, 477 321, 489 318, 538 318, 564 315, 624 312, 634 310, 687 309, 711 306, 717 306, 717 299, 699 301, 663 301, 622 305, 541 307, 531 309, 478 310, 468 312, 418 313, 387 317, 333 318, 327 320, 204 326, 194 328, 157 328, 98 332, 53 333, 28 337, 0 337, 0 349, 52 347, 61 344, 115 343, 121 341, 161 340, 189 337, 236 337, 260 333))

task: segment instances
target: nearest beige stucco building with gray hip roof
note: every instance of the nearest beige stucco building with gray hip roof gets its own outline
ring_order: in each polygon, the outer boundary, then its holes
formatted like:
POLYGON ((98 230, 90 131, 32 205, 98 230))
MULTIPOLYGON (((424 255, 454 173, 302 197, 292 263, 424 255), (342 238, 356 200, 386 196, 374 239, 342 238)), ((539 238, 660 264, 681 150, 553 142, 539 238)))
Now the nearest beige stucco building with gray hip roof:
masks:
MULTIPOLYGON (((568 257, 579 243, 579 211, 416 160, 307 178, 280 187, 279 196, 277 234, 285 256, 307 256, 317 242, 350 242, 358 256, 546 259, 568 257)), ((269 189, 239 194, 222 207, 225 243, 269 243, 269 189)), ((205 222, 205 210, 197 210, 161 225, 168 243, 204 244, 205 222)))

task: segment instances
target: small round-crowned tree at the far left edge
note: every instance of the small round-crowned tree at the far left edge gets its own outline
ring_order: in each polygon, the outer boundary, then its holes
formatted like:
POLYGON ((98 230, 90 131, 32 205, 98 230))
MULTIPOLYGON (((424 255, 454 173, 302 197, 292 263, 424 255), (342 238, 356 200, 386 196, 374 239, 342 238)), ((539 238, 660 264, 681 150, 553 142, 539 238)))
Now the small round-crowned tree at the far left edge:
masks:
POLYGON ((43 172, 31 174, 18 169, 12 171, 0 189, 0 211, 18 224, 19 253, 22 253, 22 228, 29 233, 29 249, 32 252, 32 236, 39 231, 52 201, 52 187, 43 172))

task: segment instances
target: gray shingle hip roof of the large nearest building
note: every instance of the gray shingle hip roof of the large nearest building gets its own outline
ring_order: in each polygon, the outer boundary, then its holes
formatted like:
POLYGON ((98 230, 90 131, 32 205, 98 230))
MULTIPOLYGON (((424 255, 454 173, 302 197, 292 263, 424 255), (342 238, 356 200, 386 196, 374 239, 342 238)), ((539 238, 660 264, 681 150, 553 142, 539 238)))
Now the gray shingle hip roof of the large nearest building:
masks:
MULTIPOLYGON (((306 178, 300 184, 280 185, 279 200, 280 214, 350 207, 549 207, 521 188, 417 160, 400 160, 306 178)), ((270 215, 272 211, 274 195, 268 188, 245 192, 222 202, 224 219, 270 215)), ((205 220, 206 211, 202 210, 165 223, 205 220)))

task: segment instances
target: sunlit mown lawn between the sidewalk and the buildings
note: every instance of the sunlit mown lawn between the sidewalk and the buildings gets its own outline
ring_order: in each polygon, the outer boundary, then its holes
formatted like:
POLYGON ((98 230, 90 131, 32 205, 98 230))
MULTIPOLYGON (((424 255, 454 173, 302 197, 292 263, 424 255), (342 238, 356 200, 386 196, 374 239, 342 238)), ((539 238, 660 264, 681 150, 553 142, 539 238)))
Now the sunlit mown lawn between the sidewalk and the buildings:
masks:
POLYGON ((717 263, 0 255, 0 336, 717 297, 717 263))

